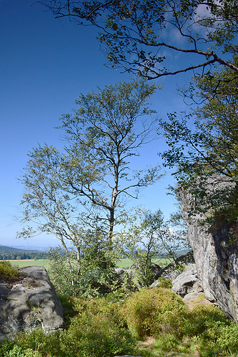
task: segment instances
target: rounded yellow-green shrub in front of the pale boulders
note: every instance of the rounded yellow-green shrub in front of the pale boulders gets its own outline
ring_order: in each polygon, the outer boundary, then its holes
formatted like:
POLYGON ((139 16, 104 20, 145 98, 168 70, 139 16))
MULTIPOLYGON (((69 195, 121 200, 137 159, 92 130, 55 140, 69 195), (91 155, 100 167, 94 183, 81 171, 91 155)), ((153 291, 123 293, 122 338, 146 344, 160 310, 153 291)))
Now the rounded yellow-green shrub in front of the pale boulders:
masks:
POLYGON ((169 289, 154 288, 135 292, 128 299, 125 318, 128 327, 136 338, 159 336, 170 332, 170 321, 180 319, 187 307, 178 295, 169 289))

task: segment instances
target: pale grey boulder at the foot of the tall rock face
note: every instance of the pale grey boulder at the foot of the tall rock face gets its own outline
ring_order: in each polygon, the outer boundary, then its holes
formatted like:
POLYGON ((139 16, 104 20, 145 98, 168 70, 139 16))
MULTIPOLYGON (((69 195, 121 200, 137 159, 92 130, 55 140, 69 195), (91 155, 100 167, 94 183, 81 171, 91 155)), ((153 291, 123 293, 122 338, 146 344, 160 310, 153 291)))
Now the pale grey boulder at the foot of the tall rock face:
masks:
POLYGON ((172 281, 172 291, 181 297, 184 297, 190 292, 201 291, 195 264, 187 265, 182 274, 178 275, 178 277, 172 281))

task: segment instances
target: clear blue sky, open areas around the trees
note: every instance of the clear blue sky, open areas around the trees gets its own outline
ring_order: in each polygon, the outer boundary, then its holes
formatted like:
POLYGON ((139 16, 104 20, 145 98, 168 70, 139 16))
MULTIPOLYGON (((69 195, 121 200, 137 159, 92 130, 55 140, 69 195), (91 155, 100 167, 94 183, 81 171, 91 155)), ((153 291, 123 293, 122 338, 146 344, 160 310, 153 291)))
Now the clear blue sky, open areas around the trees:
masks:
MULTIPOLYGON (((0 244, 48 246, 56 245, 53 237, 40 235, 31 240, 16 240, 21 230, 18 215, 23 186, 17 178, 27 162, 27 152, 37 143, 60 147, 58 125, 62 113, 70 113, 80 93, 88 93, 105 85, 128 81, 131 74, 104 66, 95 36, 97 29, 82 27, 54 19, 50 12, 32 0, 0 0, 0 244)), ((181 60, 179 56, 171 61, 181 60)), ((189 75, 190 76, 190 75, 189 75)), ((187 78, 189 78, 187 76, 187 78)), ((152 97, 159 116, 184 110, 176 84, 185 84, 185 76, 163 78, 163 91, 152 97)), ((163 139, 145 148, 141 162, 153 164, 156 153, 165 148, 163 139)), ((152 211, 160 208, 169 216, 174 199, 166 195, 172 183, 167 175, 141 194, 132 205, 145 205, 152 211)))

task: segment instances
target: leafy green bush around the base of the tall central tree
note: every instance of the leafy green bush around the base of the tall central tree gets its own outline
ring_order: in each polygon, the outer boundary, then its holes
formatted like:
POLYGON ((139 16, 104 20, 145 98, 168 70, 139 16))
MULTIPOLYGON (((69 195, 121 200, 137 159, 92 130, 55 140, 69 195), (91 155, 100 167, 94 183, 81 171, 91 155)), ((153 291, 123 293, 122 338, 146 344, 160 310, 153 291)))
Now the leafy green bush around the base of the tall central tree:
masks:
POLYGON ((106 249, 97 251, 95 237, 89 241, 79 261, 74 252, 67 256, 59 246, 51 248, 48 273, 59 295, 93 299, 116 289, 115 253, 106 249))

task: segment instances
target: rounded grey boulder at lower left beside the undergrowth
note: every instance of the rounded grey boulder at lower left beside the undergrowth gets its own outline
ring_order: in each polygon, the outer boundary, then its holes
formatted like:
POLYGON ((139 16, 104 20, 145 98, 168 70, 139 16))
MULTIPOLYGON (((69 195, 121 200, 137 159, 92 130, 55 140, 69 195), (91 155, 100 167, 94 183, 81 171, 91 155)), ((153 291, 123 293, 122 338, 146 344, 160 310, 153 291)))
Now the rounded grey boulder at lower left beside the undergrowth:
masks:
POLYGON ((0 283, 0 339, 43 328, 53 332, 64 326, 62 305, 43 266, 21 268, 21 281, 0 283))

